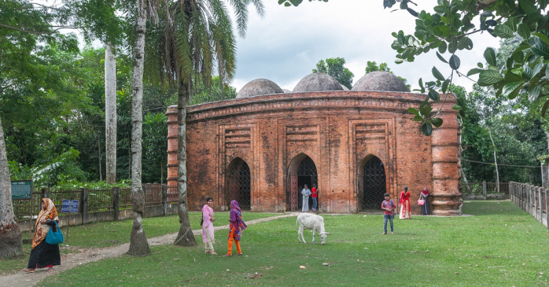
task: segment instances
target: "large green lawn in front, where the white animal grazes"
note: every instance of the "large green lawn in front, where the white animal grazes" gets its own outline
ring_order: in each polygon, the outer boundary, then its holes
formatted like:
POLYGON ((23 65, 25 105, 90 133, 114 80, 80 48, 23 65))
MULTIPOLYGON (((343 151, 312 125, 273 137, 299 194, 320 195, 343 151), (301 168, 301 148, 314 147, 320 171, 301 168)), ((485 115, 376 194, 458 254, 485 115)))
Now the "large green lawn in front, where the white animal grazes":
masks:
MULTIPOLYGON (((242 251, 247 257, 207 255, 202 245, 153 247, 159 253, 93 262, 47 277, 39 285, 548 285, 546 227, 510 201, 474 201, 465 203, 463 211, 475 216, 395 219, 394 235, 381 235, 381 215, 325 215, 331 232, 327 245, 299 244, 296 219, 278 219, 250 225, 244 232, 242 251), (244 279, 256 272, 261 278, 244 279)), ((220 254, 226 251, 226 234, 215 233, 220 254)), ((310 238, 306 231, 305 240, 310 238)))

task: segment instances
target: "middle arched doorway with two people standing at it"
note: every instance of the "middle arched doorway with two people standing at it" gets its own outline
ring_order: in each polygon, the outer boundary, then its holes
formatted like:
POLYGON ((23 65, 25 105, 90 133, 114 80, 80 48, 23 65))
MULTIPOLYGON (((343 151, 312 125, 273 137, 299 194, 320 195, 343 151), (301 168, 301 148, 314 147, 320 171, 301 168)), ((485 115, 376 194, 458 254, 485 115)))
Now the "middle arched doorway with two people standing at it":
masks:
MULTIPOLYGON (((318 176, 316 173, 316 164, 314 164, 312 158, 303 153, 297 155, 290 163, 290 190, 288 192, 288 207, 290 211, 301 210, 303 206, 303 197, 301 196, 301 190, 305 184, 307 188, 312 189, 313 184, 318 183, 318 176)), ((318 189, 318 187, 317 187, 318 189)), ((320 197, 317 197, 318 206, 320 207, 320 197)), ((312 197, 309 197, 309 210, 312 207, 312 197)))

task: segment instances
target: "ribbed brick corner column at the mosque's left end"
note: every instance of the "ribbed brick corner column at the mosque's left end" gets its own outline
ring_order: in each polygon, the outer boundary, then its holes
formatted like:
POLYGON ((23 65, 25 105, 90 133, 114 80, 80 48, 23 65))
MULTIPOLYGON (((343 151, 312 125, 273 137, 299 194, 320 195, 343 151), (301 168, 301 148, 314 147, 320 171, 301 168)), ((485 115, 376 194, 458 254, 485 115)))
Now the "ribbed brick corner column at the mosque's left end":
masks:
POLYGON ((177 105, 167 108, 167 186, 177 187, 177 105))

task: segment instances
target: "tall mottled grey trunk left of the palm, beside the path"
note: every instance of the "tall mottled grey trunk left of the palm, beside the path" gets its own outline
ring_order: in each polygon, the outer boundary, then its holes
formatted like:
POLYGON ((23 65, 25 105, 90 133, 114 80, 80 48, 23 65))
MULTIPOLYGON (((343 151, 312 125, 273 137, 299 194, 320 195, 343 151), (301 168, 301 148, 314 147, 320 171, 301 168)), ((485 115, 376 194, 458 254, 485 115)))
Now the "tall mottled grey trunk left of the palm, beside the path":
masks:
POLYGON ((147 236, 143 231, 145 194, 141 186, 141 138, 143 136, 143 61, 145 60, 145 0, 137 0, 137 37, 135 39, 135 62, 132 84, 132 216, 130 255, 150 254, 147 236))

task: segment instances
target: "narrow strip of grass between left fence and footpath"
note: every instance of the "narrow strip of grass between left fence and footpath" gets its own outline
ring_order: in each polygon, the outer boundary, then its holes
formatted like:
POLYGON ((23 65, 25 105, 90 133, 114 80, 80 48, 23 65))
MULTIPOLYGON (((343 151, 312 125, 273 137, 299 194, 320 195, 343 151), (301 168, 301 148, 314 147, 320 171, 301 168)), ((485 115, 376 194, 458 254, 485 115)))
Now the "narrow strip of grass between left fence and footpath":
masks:
MULTIPOLYGON (((215 212, 214 226, 226 225, 229 223, 229 212, 215 212)), ((248 220, 261 219, 264 217, 280 214, 245 212, 248 220)), ((193 229, 200 229, 200 212, 189 212, 191 226, 193 229)), ((82 248, 103 248, 122 243, 130 242, 132 219, 123 221, 108 221, 102 223, 90 223, 69 228, 69 240, 67 240, 67 227, 61 230, 65 236, 65 242, 60 245, 61 254, 79 252, 82 248), (68 245, 68 246, 67 246, 68 245)), ((148 238, 171 234, 179 230, 179 216, 159 216, 143 219, 143 230, 148 238)), ((28 238, 28 232, 23 233, 23 238, 28 238)), ((202 238, 197 238, 202 240, 202 238)), ((27 266, 30 255, 30 245, 23 245, 23 255, 11 260, 0 259, 0 275, 19 271, 27 266)))

